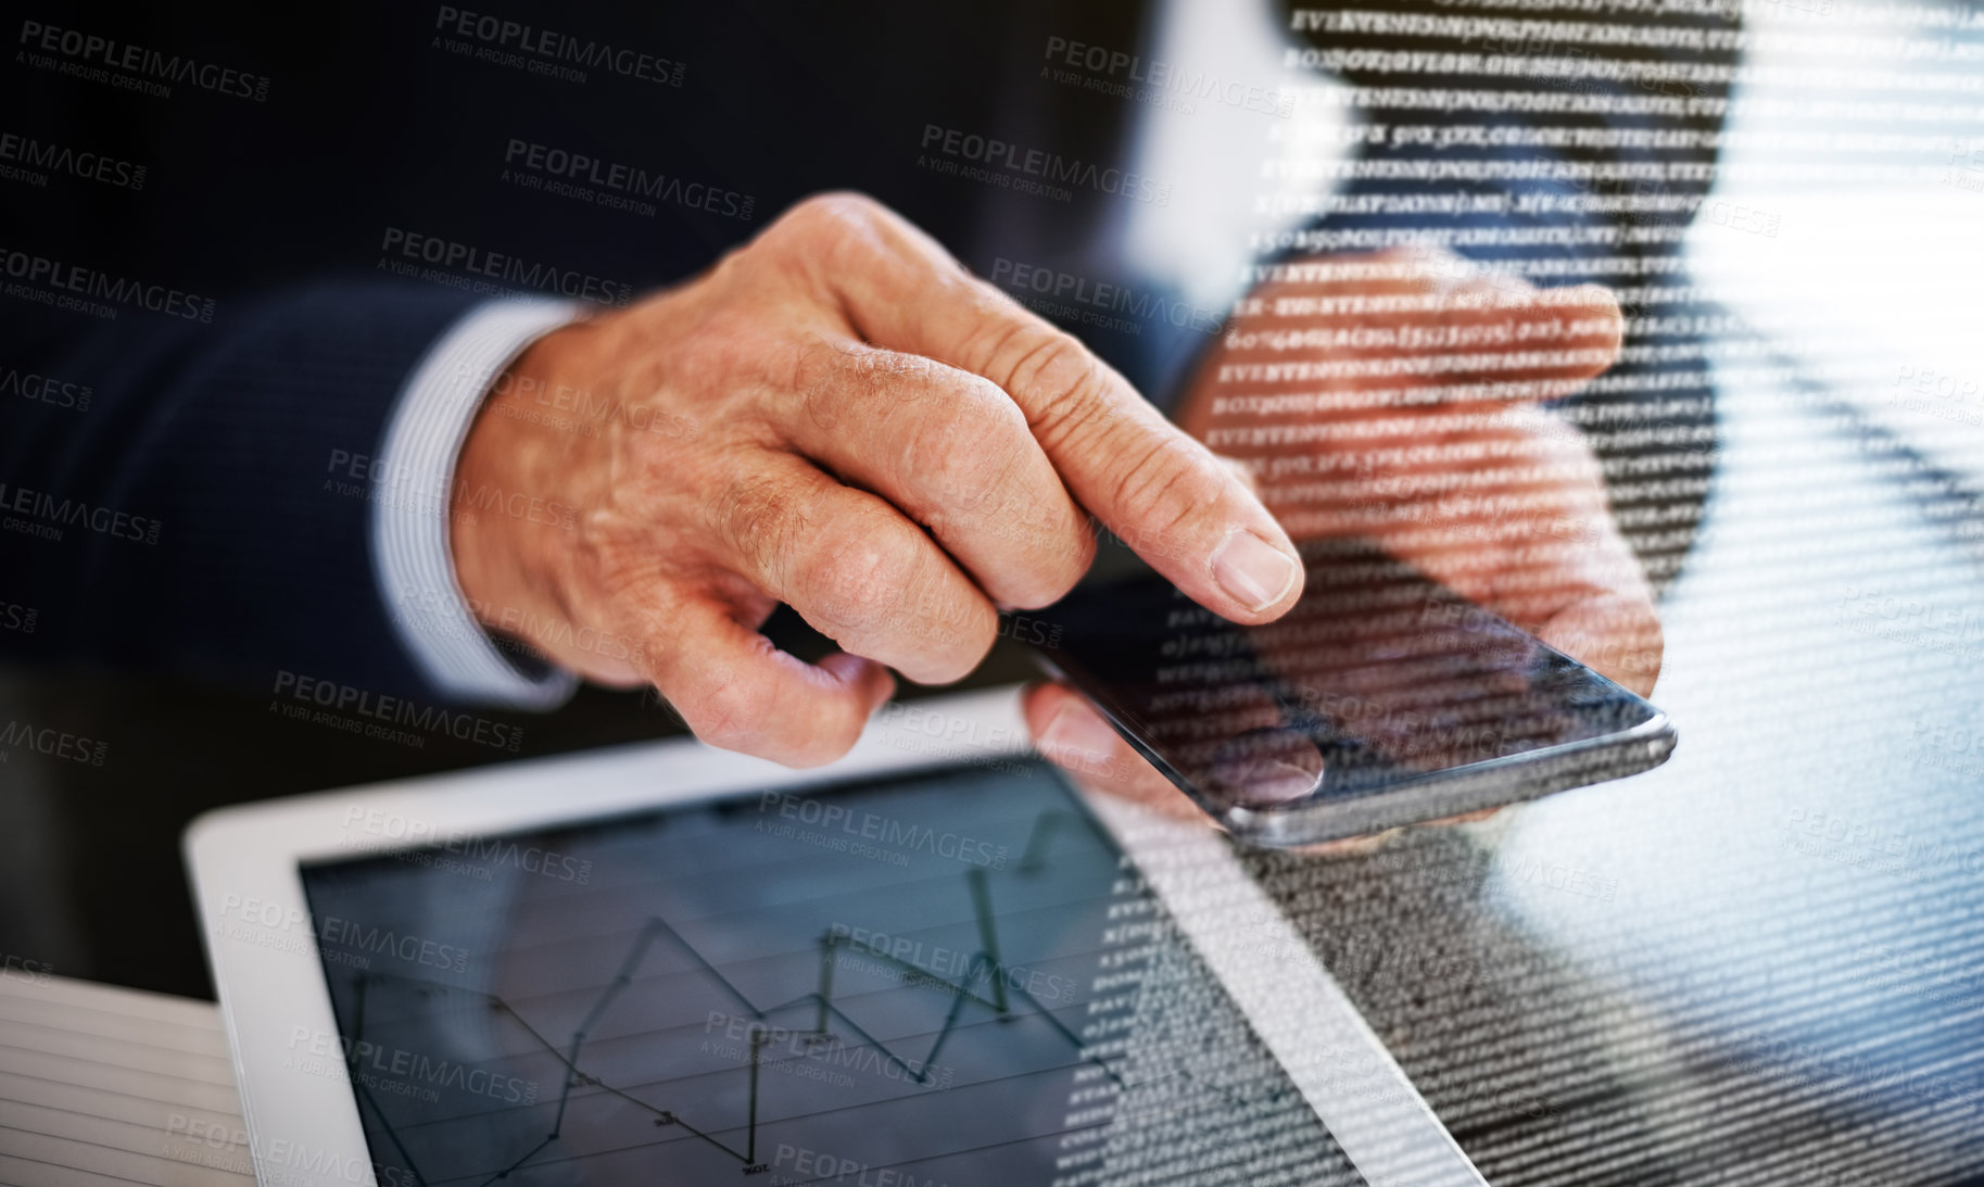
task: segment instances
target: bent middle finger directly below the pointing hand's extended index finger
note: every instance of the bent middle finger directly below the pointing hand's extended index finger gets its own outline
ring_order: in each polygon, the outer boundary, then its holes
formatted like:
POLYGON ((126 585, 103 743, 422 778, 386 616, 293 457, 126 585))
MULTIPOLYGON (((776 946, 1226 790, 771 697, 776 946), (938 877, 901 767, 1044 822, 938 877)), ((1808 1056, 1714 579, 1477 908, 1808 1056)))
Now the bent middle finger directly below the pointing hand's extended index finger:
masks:
POLYGON ((929 528, 1004 605, 1059 599, 1095 536, 1026 417, 990 379, 861 341, 800 359, 792 443, 929 528))

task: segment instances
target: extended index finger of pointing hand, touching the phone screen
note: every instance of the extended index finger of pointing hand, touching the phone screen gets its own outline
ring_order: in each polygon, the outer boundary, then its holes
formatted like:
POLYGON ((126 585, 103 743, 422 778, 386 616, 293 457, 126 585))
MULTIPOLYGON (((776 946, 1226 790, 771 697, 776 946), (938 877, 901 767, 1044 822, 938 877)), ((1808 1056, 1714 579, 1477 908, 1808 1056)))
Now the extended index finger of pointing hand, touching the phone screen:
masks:
POLYGON ((863 337, 998 383, 1067 490, 1200 605, 1244 623, 1294 605, 1302 564, 1268 508, 1073 335, 875 202, 815 218, 833 246, 811 256, 813 282, 863 337))

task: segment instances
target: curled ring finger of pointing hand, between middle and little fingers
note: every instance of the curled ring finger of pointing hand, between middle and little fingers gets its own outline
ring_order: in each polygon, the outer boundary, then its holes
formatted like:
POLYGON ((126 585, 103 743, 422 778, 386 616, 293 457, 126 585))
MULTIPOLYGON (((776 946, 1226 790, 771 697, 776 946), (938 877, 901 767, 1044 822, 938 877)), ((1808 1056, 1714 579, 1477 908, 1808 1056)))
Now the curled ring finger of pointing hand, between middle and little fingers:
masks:
POLYGON ((962 679, 998 635, 970 578, 885 500, 768 453, 708 510, 722 560, 853 655, 962 679))

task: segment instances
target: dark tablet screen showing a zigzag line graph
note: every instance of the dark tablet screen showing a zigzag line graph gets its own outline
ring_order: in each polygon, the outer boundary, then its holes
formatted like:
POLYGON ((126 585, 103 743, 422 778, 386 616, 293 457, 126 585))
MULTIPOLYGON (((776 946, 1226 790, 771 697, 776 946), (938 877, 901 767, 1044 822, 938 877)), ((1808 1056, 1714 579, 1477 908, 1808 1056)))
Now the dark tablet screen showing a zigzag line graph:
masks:
POLYGON ((1363 1183, 1038 760, 304 885, 381 1183, 1363 1183))

